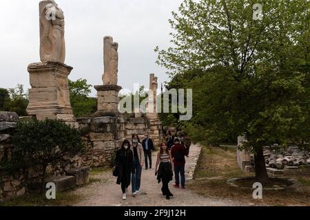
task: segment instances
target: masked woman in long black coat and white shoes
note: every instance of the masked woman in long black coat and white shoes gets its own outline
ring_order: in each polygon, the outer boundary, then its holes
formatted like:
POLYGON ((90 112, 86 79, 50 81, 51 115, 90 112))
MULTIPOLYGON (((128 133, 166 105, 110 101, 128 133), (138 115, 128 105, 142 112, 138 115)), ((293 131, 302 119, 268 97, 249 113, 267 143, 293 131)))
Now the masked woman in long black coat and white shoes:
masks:
POLYGON ((135 172, 133 168, 134 154, 130 150, 130 142, 124 140, 121 149, 116 151, 116 166, 113 175, 117 176, 116 184, 121 185, 123 200, 127 199, 127 188, 130 186, 130 177, 135 172))

